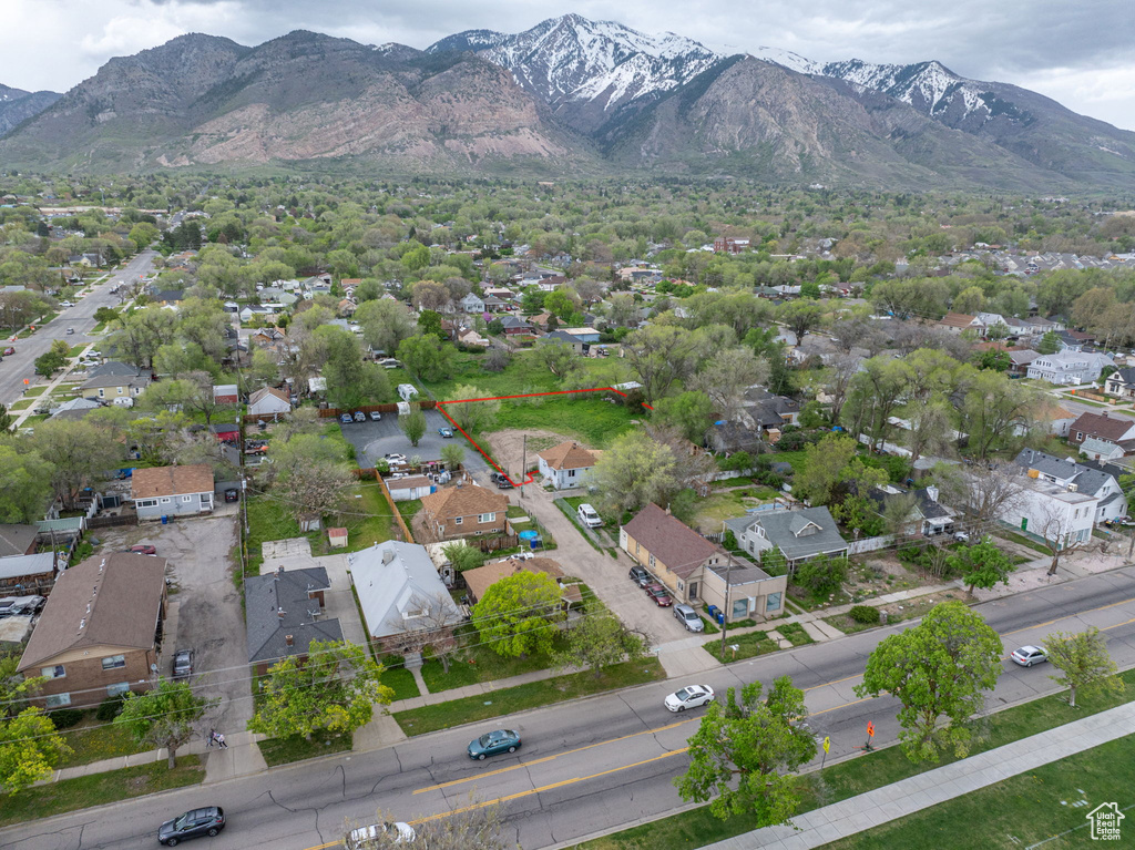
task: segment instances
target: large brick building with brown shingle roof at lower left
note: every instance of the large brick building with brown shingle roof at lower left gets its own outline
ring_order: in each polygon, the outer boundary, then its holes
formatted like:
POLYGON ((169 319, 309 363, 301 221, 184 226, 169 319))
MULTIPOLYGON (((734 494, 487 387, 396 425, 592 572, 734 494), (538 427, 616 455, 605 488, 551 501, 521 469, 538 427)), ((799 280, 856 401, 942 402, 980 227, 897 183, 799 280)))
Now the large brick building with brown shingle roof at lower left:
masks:
POLYGON ((59 573, 19 660, 47 676, 36 701, 94 706, 151 687, 166 617, 166 559, 116 552, 59 573))

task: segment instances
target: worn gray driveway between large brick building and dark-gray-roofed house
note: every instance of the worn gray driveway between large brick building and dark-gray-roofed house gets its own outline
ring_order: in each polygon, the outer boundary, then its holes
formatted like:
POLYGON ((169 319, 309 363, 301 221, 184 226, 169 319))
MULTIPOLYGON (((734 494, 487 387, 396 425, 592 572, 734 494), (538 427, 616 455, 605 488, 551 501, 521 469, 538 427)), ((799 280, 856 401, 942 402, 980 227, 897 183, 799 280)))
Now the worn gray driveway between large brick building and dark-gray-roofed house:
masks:
POLYGON ((241 596, 233 583, 237 516, 177 520, 100 529, 103 552, 152 544, 168 562, 169 618, 159 666, 173 673, 174 653, 195 653, 194 682, 207 697, 220 697, 209 725, 243 732, 252 717, 249 641, 241 596))

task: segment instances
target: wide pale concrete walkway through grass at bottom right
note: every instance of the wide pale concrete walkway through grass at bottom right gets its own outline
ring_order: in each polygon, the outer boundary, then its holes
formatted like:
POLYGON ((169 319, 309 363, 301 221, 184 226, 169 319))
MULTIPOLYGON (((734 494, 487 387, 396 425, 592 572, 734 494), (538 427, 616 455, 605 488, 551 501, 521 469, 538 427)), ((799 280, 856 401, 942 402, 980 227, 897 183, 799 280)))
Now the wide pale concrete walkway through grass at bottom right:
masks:
POLYGON ((1133 702, 808 811, 794 818, 794 828, 767 826, 704 850, 822 847, 1129 734, 1135 734, 1133 702))

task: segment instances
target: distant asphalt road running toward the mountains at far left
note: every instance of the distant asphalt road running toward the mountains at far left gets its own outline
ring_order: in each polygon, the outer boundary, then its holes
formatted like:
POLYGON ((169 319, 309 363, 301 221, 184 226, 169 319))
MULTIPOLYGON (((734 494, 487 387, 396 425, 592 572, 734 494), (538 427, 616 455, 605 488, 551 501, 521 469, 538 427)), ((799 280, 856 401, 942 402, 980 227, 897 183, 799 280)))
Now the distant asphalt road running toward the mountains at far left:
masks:
MULTIPOLYGON (((79 298, 75 306, 65 309, 47 325, 36 326, 32 336, 0 345, 0 350, 8 345, 16 348, 15 354, 8 355, 0 363, 0 403, 11 404, 19 398, 24 393, 25 378, 32 384, 36 382, 35 359, 48 352, 52 340, 66 339, 68 345, 94 342, 95 337, 90 336, 98 323, 94 321, 94 311, 100 306, 118 306, 118 297, 111 295, 110 291, 118 284, 137 280, 140 275, 149 275, 157 255, 155 251, 143 251, 94 287, 94 292, 79 298), (67 336, 67 328, 75 328, 74 336, 67 336)), ((3 339, 7 340, 7 337, 3 339)))

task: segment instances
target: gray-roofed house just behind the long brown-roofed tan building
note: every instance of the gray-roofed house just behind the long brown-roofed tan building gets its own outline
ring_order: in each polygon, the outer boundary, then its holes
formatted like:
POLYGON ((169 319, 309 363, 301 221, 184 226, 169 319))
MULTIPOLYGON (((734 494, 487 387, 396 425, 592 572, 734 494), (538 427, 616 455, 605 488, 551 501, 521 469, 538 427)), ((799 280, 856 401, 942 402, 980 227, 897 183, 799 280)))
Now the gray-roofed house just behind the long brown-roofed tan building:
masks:
POLYGON ((847 557, 848 544, 840 536, 826 507, 802 511, 766 511, 737 520, 725 520, 738 546, 751 555, 770 549, 784 556, 789 570, 819 556, 847 557))

